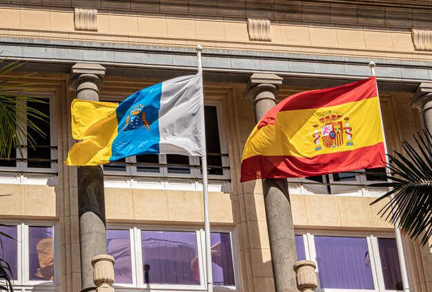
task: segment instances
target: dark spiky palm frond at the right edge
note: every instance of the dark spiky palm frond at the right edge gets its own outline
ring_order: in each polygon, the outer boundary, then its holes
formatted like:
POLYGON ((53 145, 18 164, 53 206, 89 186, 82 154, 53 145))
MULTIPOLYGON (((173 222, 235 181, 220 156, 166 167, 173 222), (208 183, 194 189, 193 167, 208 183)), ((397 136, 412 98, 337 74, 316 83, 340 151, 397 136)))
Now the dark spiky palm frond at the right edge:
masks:
POLYGON ((416 147, 402 142, 405 154, 389 155, 392 164, 387 167, 391 175, 376 174, 389 182, 371 186, 389 190, 371 204, 393 195, 379 214, 393 225, 397 222, 411 239, 421 236, 420 244, 425 245, 432 236, 432 135, 424 131, 414 136, 414 140, 416 147))

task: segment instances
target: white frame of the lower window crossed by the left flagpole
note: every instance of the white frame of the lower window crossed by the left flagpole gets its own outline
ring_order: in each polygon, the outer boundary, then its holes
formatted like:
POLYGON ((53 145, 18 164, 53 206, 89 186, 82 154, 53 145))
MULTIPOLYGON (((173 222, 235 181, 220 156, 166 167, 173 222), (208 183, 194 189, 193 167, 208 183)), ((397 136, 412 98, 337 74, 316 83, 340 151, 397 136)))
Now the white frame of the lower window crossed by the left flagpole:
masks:
MULTIPOLYGON (((115 289, 155 289, 162 291, 204 291, 206 289, 206 256, 205 256, 205 235, 203 227, 175 227, 175 226, 153 226, 153 225, 107 225, 107 230, 129 230, 130 232, 130 257, 132 284, 114 283, 115 289), (197 256, 199 265, 199 285, 182 285, 182 284, 145 284, 142 249, 141 249, 141 231, 178 231, 178 232, 193 232, 197 239, 197 256)), ((229 233, 230 247, 233 255, 233 269, 235 286, 213 286, 213 290, 238 291, 241 290, 241 277, 239 274, 239 258, 237 252, 236 233, 230 228, 214 228, 211 232, 229 233)))

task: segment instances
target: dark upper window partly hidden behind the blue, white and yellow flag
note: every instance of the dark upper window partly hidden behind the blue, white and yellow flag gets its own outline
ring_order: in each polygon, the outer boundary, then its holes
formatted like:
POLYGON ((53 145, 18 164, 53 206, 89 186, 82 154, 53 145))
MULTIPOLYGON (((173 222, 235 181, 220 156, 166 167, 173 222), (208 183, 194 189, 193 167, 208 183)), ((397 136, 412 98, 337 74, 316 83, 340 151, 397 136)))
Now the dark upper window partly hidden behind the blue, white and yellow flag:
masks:
MULTIPOLYGON (((228 154, 222 135, 219 107, 219 103, 204 107, 210 191, 229 190, 228 154)), ((190 190, 202 188, 201 159, 196 156, 132 156, 104 165, 104 174, 106 187, 190 190)))

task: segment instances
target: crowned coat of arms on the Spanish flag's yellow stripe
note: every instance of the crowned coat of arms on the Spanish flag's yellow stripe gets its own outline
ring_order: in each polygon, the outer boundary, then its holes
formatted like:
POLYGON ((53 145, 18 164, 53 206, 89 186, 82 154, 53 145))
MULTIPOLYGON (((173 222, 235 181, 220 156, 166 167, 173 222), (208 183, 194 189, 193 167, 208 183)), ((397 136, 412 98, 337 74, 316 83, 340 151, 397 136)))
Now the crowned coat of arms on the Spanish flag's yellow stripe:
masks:
POLYGON ((313 125, 314 132, 313 142, 315 143, 315 151, 321 150, 322 145, 328 148, 337 148, 344 144, 353 146, 352 128, 349 126, 349 118, 346 116, 342 120, 342 112, 331 112, 320 116, 318 121, 320 124, 313 125))

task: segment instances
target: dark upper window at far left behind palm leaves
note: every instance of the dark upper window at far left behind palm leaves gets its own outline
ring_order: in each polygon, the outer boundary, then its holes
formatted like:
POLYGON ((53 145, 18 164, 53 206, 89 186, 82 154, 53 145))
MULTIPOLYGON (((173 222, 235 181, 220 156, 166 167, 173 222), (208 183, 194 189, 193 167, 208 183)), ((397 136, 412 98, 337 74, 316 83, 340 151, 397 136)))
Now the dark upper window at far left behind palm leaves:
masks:
MULTIPOLYGON (((49 117, 48 121, 41 121, 30 115, 26 116, 26 113, 23 112, 19 112, 18 115, 35 123, 45 136, 37 134, 29 127, 26 137, 23 138, 25 145, 21 145, 22 156, 19 149, 14 149, 10 154, 10 160, 7 160, 6 157, 0 158, 0 180, 4 183, 49 185, 55 183, 57 173, 57 147, 55 145, 57 142, 55 132, 50 127, 54 116, 52 98, 40 97, 37 99, 41 102, 28 101, 26 105, 46 114, 49 117), (34 148, 28 145, 29 135, 33 139, 34 148)), ((21 101, 21 103, 26 103, 26 101, 21 101)), ((17 132, 17 135, 22 136, 22 133, 17 132)))

